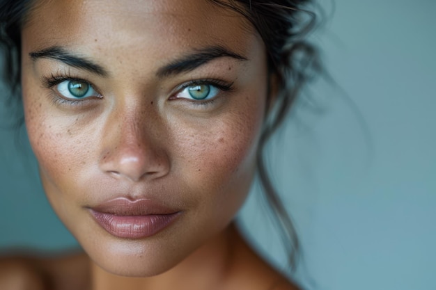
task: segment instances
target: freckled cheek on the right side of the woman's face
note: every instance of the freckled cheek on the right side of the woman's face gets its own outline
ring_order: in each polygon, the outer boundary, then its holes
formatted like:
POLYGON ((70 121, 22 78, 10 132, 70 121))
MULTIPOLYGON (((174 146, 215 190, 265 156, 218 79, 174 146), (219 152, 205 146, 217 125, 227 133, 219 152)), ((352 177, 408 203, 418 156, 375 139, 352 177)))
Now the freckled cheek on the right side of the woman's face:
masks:
MULTIPOLYGON (((182 124, 174 142, 176 168, 211 220, 232 218, 244 201, 256 169, 265 95, 244 97, 219 118, 182 124), (177 162, 179 161, 179 162, 177 162), (177 164, 183 166, 177 166, 177 164), (183 171, 181 171, 183 170, 183 171), (219 216, 220 218, 217 218, 219 216)), ((180 124, 180 123, 179 123, 180 124)))

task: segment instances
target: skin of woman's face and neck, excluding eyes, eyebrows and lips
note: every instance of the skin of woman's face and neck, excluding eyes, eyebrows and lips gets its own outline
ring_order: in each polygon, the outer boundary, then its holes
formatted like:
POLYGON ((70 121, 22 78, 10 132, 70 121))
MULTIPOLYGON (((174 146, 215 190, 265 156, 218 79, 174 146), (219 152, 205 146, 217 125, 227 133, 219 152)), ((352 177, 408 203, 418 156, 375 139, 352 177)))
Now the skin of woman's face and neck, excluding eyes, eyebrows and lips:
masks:
POLYGON ((267 87, 258 33, 208 1, 36 1, 22 31, 26 127, 47 198, 86 251, 77 269, 90 289, 294 289, 231 223, 256 169, 267 87), (224 56, 157 76, 217 45, 246 60, 224 56), (53 46, 107 75, 29 56, 53 46), (43 81, 59 74, 86 80, 98 95, 65 102, 43 81), (232 89, 198 104, 177 89, 196 79, 232 89), (121 196, 181 214, 153 236, 120 239, 88 208, 121 196))

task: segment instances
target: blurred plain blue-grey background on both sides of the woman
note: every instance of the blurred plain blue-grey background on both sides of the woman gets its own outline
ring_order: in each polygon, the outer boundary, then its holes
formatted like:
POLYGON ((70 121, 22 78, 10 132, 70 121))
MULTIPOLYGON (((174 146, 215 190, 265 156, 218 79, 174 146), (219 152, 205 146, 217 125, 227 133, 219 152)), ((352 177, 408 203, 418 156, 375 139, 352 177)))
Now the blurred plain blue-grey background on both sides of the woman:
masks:
MULTIPOLYGON (((297 279, 326 290, 436 289, 436 1, 322 5, 334 13, 312 38, 336 84, 311 86, 267 152, 302 243, 297 279)), ((8 113, 2 104, 0 252, 77 247, 8 113)), ((240 223, 283 268, 258 191, 240 223)))

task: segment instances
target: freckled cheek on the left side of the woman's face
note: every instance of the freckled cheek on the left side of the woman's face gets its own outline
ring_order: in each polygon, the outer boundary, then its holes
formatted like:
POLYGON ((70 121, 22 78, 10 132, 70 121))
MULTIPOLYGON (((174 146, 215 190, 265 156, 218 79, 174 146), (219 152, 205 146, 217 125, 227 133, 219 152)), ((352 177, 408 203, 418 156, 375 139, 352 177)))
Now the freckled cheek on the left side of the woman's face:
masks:
MULTIPOLYGON (((47 96, 29 90, 31 83, 23 81, 23 101, 26 129, 38 160, 40 177, 47 194, 56 189, 72 188, 77 172, 86 166, 86 138, 75 138, 75 123, 79 118, 56 117, 54 105, 43 102, 47 96), (29 86, 30 85, 30 86, 29 86)), ((33 88, 35 86, 33 85, 33 88)))

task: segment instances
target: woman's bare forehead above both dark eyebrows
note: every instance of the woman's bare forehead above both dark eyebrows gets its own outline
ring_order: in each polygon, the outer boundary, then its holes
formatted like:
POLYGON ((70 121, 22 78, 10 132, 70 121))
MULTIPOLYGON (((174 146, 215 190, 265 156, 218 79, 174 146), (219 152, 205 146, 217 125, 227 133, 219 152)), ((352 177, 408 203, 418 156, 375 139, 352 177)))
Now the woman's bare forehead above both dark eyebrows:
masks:
POLYGON ((147 49, 164 57, 207 45, 243 50, 255 34, 242 15, 208 0, 40 0, 23 38, 41 47, 98 48, 103 55, 147 49))

